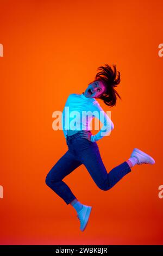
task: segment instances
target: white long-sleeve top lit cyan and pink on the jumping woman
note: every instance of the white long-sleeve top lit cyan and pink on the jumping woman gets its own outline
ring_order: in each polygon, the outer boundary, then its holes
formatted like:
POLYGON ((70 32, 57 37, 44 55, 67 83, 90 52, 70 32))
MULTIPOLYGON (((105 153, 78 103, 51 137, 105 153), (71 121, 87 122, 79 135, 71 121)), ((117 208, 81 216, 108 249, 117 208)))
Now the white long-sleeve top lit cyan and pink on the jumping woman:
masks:
POLYGON ((98 118, 103 126, 96 135, 91 136, 92 142, 108 136, 111 130, 114 129, 114 124, 95 98, 85 97, 83 93, 70 94, 62 112, 64 136, 66 137, 67 130, 90 131, 91 121, 94 117, 98 118))

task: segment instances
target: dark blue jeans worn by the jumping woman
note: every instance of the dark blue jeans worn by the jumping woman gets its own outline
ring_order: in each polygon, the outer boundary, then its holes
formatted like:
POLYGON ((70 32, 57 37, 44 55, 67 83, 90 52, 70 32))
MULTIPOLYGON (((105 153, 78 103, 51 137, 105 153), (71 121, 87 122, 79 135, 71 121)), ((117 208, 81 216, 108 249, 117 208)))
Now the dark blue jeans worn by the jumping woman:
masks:
POLYGON ((107 173, 97 143, 80 137, 80 132, 66 136, 66 143, 67 152, 46 176, 46 184, 66 204, 70 204, 76 197, 63 179, 81 164, 84 164, 96 185, 105 191, 110 190, 124 175, 131 172, 128 163, 123 162, 107 173))

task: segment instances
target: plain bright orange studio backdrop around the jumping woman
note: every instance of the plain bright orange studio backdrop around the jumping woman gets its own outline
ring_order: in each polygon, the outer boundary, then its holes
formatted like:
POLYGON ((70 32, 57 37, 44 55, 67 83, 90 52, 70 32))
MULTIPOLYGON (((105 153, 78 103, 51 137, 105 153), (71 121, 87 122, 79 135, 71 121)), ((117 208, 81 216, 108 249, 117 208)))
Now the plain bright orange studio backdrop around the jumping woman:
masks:
POLYGON ((161 245, 162 43, 161 0, 0 1, 2 245, 161 245), (86 230, 76 211, 45 184, 66 152, 52 113, 82 93, 98 66, 121 72, 111 110, 115 129, 98 142, 108 172, 133 148, 154 166, 135 166, 109 191, 84 166, 66 176, 78 200, 92 205, 86 230))

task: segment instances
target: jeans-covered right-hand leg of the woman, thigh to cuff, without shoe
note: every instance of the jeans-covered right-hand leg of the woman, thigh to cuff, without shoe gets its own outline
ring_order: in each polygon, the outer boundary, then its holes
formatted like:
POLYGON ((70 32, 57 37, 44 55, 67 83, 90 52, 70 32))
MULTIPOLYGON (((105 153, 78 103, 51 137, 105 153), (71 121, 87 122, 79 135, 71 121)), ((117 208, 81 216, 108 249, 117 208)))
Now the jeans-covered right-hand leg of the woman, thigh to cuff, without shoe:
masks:
POLYGON ((101 188, 101 190, 109 190, 118 181, 120 181, 123 176, 131 172, 128 163, 125 161, 108 173, 102 161, 98 147, 90 147, 84 150, 82 153, 82 163, 85 165, 92 179, 95 181, 96 185, 101 188))

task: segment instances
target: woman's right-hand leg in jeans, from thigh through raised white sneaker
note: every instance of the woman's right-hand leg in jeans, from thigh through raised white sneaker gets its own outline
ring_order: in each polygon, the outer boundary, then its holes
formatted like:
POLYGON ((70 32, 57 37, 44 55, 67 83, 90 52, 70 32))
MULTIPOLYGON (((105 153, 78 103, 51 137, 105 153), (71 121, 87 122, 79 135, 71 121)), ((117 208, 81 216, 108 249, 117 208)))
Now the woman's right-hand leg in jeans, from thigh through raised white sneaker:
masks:
POLYGON ((134 164, 154 163, 151 156, 143 153, 143 151, 139 149, 134 149, 128 161, 119 164, 108 173, 103 164, 98 147, 90 147, 83 150, 81 161, 101 190, 109 190, 113 187, 123 176, 131 172, 131 167, 133 167, 134 164))

